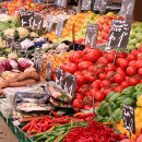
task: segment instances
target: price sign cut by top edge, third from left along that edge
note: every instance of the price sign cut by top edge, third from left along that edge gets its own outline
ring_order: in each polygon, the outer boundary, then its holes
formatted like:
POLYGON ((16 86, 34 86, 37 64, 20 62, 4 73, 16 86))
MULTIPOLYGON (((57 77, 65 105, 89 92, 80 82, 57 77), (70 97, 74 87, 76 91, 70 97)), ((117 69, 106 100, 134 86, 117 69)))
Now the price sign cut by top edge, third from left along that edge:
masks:
POLYGON ((105 12, 107 0, 95 0, 94 10, 105 12))

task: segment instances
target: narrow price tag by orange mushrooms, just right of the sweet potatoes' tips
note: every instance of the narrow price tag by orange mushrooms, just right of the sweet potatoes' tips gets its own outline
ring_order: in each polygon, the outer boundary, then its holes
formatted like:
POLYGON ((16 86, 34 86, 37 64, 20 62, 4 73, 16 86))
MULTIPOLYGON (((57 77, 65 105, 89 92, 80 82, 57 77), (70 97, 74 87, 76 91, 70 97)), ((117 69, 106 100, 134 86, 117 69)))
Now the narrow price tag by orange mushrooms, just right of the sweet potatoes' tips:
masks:
POLYGON ((47 60, 46 76, 48 81, 51 81, 51 68, 52 68, 52 62, 50 60, 47 60))

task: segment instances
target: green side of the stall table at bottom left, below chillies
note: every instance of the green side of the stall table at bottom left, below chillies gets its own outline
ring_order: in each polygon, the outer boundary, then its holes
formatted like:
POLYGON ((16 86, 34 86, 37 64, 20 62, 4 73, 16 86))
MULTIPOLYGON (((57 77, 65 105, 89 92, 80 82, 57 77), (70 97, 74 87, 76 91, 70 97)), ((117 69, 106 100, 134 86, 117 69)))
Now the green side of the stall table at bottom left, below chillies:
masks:
POLYGON ((10 130, 20 142, 33 142, 33 140, 26 133, 24 133, 24 131, 22 131, 20 127, 13 125, 12 118, 5 118, 1 113, 0 117, 4 120, 4 122, 8 125, 10 130))

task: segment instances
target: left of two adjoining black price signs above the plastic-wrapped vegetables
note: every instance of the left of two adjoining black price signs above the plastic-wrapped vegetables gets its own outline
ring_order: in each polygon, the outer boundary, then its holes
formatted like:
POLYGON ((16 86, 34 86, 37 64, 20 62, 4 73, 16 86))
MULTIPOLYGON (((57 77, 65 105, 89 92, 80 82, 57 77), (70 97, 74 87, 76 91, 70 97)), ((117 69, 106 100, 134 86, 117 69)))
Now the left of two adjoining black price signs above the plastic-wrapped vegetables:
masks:
POLYGON ((64 71, 59 67, 56 68, 56 84, 60 85, 63 88, 63 76, 64 71))

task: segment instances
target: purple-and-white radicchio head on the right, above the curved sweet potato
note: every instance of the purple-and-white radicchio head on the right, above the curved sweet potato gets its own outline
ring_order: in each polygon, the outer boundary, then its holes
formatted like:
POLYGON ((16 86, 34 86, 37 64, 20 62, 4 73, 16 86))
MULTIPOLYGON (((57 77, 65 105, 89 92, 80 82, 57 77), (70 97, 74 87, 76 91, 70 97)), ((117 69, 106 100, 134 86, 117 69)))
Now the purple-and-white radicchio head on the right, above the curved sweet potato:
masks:
POLYGON ((24 59, 20 62, 20 70, 24 71, 27 68, 34 67, 34 62, 28 60, 28 59, 24 59))

